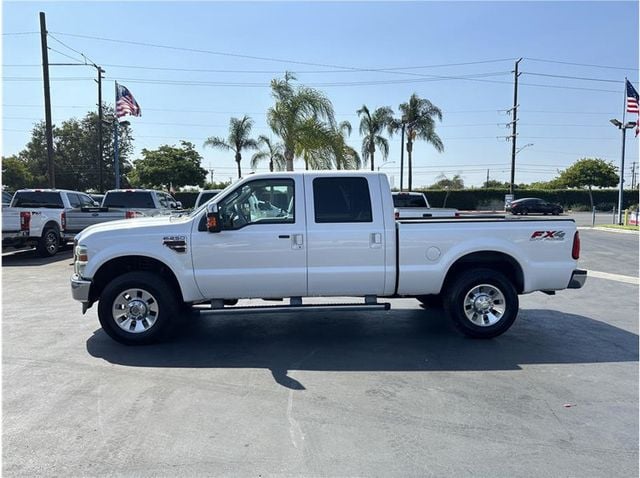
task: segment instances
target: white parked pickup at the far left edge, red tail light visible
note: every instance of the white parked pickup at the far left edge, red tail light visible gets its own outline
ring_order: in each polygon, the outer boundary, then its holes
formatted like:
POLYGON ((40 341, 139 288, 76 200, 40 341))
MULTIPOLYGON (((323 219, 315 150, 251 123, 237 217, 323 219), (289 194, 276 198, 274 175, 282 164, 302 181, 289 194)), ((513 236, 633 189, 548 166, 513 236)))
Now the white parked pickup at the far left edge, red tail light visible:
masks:
POLYGON ((74 208, 95 206, 88 194, 64 189, 20 189, 2 209, 2 246, 36 246, 42 257, 73 240, 66 215, 74 208))

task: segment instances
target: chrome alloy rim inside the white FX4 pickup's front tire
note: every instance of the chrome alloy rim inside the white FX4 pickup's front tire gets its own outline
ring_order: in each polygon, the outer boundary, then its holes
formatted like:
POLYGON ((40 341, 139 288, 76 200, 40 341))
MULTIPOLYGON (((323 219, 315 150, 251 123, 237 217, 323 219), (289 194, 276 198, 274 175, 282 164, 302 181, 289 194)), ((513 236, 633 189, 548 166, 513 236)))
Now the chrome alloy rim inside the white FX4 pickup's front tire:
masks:
POLYGON ((146 332, 158 318, 158 301, 143 289, 122 291, 113 301, 113 320, 118 327, 130 334, 146 332))

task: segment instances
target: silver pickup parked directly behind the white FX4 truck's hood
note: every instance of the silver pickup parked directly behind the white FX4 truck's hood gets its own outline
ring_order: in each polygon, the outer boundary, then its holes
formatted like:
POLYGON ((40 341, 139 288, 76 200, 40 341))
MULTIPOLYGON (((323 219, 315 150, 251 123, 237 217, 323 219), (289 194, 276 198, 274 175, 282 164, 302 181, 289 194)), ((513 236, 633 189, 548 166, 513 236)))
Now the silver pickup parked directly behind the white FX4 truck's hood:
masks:
POLYGON ((171 214, 181 204, 171 195, 152 189, 107 191, 100 207, 82 207, 67 213, 67 230, 78 233, 103 222, 171 214))

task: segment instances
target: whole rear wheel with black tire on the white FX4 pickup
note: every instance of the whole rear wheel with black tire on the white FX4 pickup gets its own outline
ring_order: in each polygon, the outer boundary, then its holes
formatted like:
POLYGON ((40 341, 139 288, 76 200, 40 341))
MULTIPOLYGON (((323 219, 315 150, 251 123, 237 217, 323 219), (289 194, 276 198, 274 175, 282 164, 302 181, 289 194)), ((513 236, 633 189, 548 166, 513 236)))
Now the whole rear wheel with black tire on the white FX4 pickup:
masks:
POLYGON ((448 285, 445 311, 465 335, 490 339, 505 333, 518 316, 518 294, 509 279, 492 269, 472 269, 448 285))

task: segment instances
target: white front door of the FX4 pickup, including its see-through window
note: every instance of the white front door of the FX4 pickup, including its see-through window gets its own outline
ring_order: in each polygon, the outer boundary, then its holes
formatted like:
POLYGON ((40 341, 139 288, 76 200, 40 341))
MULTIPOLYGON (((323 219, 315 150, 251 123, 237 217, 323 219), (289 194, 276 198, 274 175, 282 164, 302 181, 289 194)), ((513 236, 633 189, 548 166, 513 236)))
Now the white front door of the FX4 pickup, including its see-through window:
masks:
POLYGON ((205 297, 306 295, 302 188, 293 178, 256 179, 218 202, 222 231, 192 233, 195 280, 205 297))

